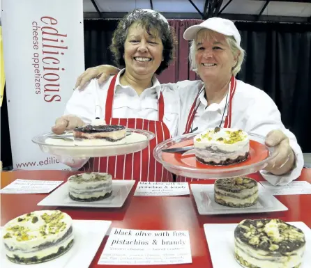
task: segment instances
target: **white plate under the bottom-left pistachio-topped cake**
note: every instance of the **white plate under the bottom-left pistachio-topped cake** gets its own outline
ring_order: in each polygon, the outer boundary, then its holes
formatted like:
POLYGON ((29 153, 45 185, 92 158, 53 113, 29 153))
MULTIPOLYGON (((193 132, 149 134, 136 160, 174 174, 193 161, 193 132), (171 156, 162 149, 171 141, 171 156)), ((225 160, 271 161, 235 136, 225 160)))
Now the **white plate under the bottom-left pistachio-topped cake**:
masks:
MULTIPOLYGON (((91 264, 111 221, 73 221, 75 241, 73 247, 59 258, 36 265, 18 265, 6 258, 1 239, 1 267, 5 268, 88 268, 91 264)), ((2 237, 2 236, 1 236, 2 237)))

